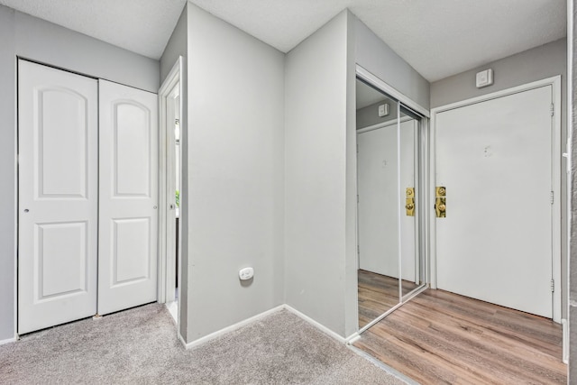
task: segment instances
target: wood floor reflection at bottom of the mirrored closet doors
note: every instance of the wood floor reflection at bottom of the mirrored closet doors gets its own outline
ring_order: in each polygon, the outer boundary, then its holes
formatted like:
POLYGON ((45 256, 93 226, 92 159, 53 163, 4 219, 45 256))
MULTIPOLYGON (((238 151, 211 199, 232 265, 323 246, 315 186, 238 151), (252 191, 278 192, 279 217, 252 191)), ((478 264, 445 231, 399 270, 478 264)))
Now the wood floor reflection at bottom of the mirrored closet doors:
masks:
MULTIPOLYGON (((398 304, 398 279, 367 270, 358 270, 359 328, 369 324, 398 304)), ((403 280, 403 294, 417 288, 415 282, 403 280)))

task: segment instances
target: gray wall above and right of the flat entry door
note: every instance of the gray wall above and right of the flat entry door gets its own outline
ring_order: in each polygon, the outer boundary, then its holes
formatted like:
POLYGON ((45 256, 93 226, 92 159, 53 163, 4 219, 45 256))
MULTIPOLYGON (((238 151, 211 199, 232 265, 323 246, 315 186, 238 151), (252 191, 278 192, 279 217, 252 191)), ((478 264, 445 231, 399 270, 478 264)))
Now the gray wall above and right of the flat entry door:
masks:
MULTIPOLYGON (((520 86, 543 78, 562 76, 561 111, 567 111, 567 41, 561 39, 517 53, 508 58, 493 61, 477 69, 471 69, 450 78, 431 84, 431 108, 447 105, 475 96, 490 94, 510 87, 520 86), (494 84, 490 87, 475 87, 475 74, 483 69, 493 69, 494 84)), ((561 149, 567 142, 567 121, 561 120, 561 149)), ((567 164, 561 160, 561 232, 562 232, 562 316, 567 316, 567 164)))

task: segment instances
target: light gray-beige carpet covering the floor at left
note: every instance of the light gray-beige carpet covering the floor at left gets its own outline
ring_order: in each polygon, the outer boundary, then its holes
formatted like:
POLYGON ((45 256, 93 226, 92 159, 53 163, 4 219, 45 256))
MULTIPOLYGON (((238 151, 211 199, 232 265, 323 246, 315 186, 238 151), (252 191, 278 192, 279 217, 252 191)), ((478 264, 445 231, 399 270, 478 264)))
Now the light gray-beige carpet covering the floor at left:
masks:
POLYGON ((169 312, 152 304, 0 346, 0 383, 404 382, 286 310, 187 351, 169 312))

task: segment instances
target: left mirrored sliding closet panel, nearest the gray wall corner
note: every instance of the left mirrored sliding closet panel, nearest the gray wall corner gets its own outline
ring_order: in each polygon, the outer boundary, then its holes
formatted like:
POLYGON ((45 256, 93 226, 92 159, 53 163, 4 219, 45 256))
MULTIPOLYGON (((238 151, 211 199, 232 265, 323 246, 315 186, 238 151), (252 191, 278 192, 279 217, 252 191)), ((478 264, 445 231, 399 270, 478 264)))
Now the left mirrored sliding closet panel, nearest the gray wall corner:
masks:
POLYGON ((357 79, 359 327, 398 305, 398 104, 357 79))

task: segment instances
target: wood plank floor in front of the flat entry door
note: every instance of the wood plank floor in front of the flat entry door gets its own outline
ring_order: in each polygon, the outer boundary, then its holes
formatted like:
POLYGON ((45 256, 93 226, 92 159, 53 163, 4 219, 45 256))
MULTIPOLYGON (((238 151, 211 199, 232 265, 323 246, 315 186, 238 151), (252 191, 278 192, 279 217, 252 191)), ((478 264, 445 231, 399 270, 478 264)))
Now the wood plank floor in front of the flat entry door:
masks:
POLYGON ((565 384, 549 319, 427 289, 354 346, 422 384, 565 384))

